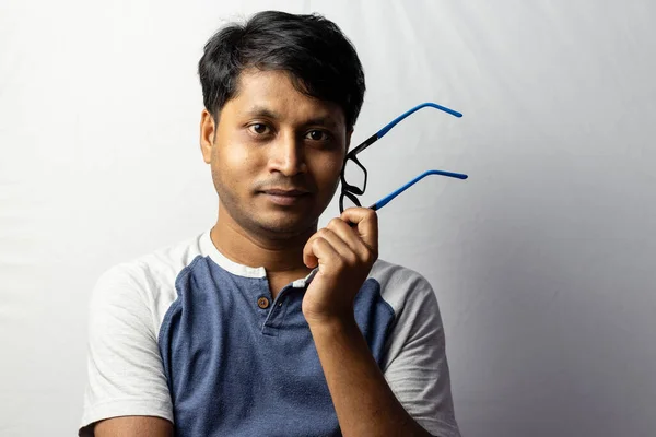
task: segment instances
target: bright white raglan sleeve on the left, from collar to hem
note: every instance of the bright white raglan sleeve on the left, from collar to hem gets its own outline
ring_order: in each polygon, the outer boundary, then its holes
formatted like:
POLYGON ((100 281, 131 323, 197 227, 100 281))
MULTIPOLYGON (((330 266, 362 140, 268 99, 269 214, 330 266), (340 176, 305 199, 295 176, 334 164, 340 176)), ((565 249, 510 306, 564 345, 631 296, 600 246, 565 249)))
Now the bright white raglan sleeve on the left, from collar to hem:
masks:
POLYGON ((80 435, 126 415, 173 422, 160 353, 162 321, 177 298, 176 279, 200 258, 190 238, 106 270, 91 297, 89 379, 80 435))

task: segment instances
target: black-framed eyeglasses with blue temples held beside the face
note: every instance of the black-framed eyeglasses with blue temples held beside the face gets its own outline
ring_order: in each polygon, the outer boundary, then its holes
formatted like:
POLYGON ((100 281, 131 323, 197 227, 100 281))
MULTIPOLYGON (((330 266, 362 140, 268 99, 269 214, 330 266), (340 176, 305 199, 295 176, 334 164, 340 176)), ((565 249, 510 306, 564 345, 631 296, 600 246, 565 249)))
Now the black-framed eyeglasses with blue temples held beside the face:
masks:
MULTIPOLYGON (((375 143, 376 141, 378 141, 379 139, 382 139, 383 137, 385 137, 385 134, 387 132, 389 132, 395 126, 397 126, 405 118, 417 113, 419 109, 426 108, 426 107, 440 109, 444 113, 450 114, 454 117, 458 117, 458 118, 462 117, 462 114, 460 114, 456 110, 449 109, 445 106, 437 105, 436 103, 431 103, 431 102, 422 103, 421 105, 418 105, 418 106, 413 107, 412 109, 409 109, 408 111, 401 114, 400 116, 398 116, 397 118, 391 120, 389 123, 387 123, 385 127, 383 127, 383 129, 380 129, 378 132, 374 133, 372 137, 366 139, 362 144, 358 145, 355 149, 350 151, 344 158, 344 165, 342 168, 342 173, 340 175, 340 178, 341 178, 341 194, 339 197, 340 213, 344 212, 345 208, 362 205, 360 203, 360 199, 358 197, 364 194, 364 191, 366 190, 367 173, 366 173, 366 168, 364 168, 364 165, 362 165, 362 163, 358 160, 358 157, 356 157, 358 154, 360 152, 364 151, 366 147, 368 147, 373 143, 375 143), (348 174, 349 179, 351 180, 351 184, 347 182, 347 174, 348 174), (345 208, 344 208, 344 200, 347 202, 345 208)), ((421 175, 419 175, 418 177, 415 177, 414 179, 412 179, 411 181, 409 181, 408 184, 406 184, 398 190, 384 197, 383 199, 380 199, 379 201, 377 201, 370 208, 374 211, 379 210, 380 208, 383 208, 387 203, 389 203, 393 199, 395 199, 397 196, 399 196, 401 192, 406 191, 408 188, 412 187, 414 184, 419 182, 421 179, 423 179, 430 175, 447 176, 447 177, 453 177, 453 178, 457 178, 457 179, 467 179, 467 177, 468 177, 467 175, 464 175, 460 173, 452 173, 452 172, 444 172, 444 170, 427 170, 427 172, 422 173, 421 175)))

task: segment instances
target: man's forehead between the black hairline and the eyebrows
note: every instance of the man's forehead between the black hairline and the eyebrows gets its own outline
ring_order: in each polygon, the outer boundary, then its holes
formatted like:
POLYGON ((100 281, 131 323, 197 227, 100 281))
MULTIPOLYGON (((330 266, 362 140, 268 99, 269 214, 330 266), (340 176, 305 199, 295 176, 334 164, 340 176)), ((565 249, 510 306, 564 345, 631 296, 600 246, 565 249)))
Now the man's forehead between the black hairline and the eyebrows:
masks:
POLYGON ((337 127, 344 126, 344 114, 339 105, 320 101, 297 91, 285 71, 249 69, 239 74, 237 93, 226 102, 223 110, 247 117, 255 113, 290 123, 324 119, 337 127))

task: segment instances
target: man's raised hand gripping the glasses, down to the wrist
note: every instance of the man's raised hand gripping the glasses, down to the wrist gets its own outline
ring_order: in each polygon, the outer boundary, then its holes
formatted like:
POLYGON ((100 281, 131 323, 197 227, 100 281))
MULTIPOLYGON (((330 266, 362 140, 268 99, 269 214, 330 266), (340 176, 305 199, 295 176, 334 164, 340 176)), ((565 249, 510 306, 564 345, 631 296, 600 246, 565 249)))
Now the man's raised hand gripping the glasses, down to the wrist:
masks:
POLYGON ((378 258, 378 216, 368 208, 350 208, 313 235, 303 262, 319 267, 303 298, 303 315, 314 321, 353 318, 353 300, 378 258))

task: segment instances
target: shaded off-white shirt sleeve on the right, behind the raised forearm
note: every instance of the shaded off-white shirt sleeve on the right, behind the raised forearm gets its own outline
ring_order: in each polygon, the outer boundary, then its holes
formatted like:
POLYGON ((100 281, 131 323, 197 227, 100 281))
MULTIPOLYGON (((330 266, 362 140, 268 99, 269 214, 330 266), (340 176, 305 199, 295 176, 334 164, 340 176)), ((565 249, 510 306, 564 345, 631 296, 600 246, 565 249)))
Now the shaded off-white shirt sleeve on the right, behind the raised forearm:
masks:
POLYGON ((459 437, 437 298, 418 273, 406 277, 387 341, 385 378, 406 411, 427 432, 459 437))

